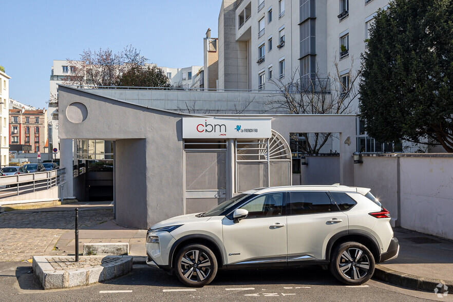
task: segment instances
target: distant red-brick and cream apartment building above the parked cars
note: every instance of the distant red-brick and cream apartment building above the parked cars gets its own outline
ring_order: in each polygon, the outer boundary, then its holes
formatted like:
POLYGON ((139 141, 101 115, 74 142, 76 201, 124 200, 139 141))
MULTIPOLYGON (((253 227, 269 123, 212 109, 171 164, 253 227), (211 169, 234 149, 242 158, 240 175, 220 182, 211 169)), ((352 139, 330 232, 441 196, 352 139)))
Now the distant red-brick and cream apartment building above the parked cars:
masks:
POLYGON ((11 145, 31 145, 31 152, 48 152, 47 110, 9 109, 11 145))

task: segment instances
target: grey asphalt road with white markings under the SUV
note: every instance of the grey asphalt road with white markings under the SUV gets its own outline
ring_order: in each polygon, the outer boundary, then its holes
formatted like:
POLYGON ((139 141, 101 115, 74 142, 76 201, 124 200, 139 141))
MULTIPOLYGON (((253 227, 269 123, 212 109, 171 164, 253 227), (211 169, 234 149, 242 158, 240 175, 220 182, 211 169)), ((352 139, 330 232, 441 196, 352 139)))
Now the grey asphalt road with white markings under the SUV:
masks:
POLYGON ((347 287, 318 267, 285 270, 219 271, 211 285, 186 288, 174 276, 134 265, 131 273, 87 287, 41 289, 22 262, 0 262, 1 301, 453 301, 435 293, 394 287, 370 280, 347 287))

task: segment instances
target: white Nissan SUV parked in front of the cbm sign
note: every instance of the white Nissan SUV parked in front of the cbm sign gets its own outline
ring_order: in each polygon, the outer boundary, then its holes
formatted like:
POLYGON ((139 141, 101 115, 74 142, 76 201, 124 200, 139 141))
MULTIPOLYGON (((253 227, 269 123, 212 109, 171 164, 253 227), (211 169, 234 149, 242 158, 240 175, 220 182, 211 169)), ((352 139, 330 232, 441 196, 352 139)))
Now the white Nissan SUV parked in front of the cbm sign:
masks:
POLYGON ((153 225, 147 263, 192 287, 209 284, 217 268, 313 264, 329 265, 338 280, 359 285, 371 278, 374 263, 398 257, 389 221, 369 188, 257 188, 206 213, 153 225))

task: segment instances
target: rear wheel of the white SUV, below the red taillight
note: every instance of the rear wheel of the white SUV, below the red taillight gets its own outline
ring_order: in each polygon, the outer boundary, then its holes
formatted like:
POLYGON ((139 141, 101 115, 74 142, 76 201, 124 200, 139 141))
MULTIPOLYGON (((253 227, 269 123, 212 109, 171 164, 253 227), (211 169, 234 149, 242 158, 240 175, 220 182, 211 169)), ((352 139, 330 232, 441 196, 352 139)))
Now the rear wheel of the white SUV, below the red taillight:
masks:
POLYGON ((330 271, 347 285, 361 285, 374 273, 374 257, 361 243, 343 242, 332 253, 330 271))

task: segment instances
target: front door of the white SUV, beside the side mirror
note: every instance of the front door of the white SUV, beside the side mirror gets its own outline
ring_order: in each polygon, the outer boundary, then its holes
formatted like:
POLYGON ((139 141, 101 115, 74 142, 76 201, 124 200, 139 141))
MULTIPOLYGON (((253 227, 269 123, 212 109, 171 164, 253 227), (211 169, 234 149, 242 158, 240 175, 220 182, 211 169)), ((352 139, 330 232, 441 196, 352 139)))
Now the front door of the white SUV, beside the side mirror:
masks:
POLYGON ((287 231, 285 192, 257 196, 239 209, 247 218, 234 222, 223 218, 223 246, 228 265, 286 262, 287 231))

